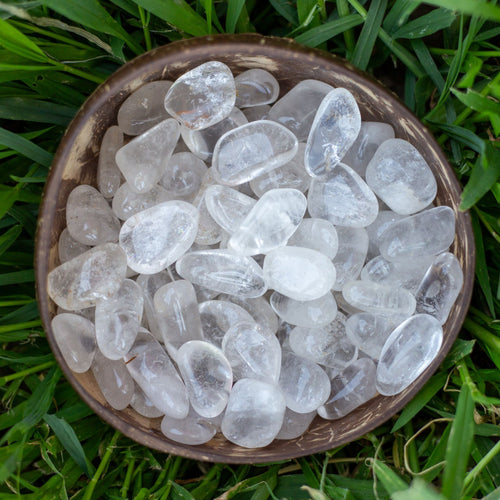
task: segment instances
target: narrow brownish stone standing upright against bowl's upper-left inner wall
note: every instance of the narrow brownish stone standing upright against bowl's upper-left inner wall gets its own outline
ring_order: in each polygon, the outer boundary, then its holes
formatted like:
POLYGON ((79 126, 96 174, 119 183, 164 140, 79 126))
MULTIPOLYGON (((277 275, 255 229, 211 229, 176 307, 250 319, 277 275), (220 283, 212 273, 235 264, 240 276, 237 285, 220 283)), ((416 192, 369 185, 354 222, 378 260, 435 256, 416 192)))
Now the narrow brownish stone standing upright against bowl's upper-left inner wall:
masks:
POLYGON ((123 134, 113 125, 104 133, 97 162, 97 187, 104 198, 112 198, 120 187, 122 173, 116 164, 116 152, 123 146, 123 134))

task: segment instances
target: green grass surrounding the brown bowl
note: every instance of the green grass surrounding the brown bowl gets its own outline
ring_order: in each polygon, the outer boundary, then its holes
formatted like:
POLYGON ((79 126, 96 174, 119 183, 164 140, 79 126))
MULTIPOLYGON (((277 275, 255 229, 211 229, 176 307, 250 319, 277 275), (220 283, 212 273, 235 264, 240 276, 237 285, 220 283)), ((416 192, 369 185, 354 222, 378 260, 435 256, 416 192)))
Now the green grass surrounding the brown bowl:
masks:
POLYGON ((0 500, 500 499, 499 21, 494 0, 0 0, 0 500), (78 107, 134 56, 218 32, 292 37, 393 89, 446 151, 477 245, 460 338, 404 411, 263 466, 157 453, 100 421, 61 376, 34 295, 38 204, 78 107))

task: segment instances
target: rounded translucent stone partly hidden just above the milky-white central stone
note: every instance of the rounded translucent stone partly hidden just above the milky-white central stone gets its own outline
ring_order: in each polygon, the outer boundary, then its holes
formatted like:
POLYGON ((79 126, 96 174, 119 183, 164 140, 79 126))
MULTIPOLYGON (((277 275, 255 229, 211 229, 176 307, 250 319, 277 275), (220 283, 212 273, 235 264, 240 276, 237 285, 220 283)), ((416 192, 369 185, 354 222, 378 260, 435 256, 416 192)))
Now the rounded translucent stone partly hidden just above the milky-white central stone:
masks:
POLYGON ((329 259, 333 259, 339 247, 337 230, 324 219, 307 218, 300 224, 288 244, 296 247, 312 248, 329 259))

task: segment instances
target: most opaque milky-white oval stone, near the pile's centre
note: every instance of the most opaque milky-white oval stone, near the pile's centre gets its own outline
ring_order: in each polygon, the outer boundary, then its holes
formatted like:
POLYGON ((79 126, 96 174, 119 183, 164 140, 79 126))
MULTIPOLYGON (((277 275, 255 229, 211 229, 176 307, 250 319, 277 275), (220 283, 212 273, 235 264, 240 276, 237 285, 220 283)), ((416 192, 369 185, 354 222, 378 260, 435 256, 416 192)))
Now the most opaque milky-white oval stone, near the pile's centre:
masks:
POLYGON ((268 287, 291 299, 319 299, 332 288, 335 277, 332 261, 310 248, 279 247, 264 259, 268 287))

